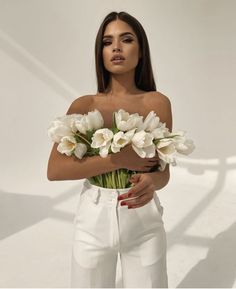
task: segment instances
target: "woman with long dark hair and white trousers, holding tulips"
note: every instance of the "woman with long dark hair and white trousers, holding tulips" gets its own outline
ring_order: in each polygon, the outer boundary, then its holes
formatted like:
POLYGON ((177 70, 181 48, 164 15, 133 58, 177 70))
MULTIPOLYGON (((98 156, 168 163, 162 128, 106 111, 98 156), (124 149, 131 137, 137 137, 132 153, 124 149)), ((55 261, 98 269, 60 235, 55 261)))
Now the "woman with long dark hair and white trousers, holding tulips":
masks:
MULTIPOLYGON (((147 116, 154 110, 171 131, 171 104, 156 91, 148 40, 141 24, 125 12, 103 20, 95 45, 98 92, 76 99, 67 114, 98 109, 104 127, 120 108, 147 116)), ((131 145, 119 153, 75 161, 57 152, 48 163, 49 180, 86 179, 75 216, 72 287, 115 287, 120 254, 124 287, 167 287, 166 235, 162 207, 155 191, 169 181, 169 167, 150 172, 158 156, 140 158, 131 145), (140 171, 132 188, 108 189, 88 178, 120 168, 140 171)))

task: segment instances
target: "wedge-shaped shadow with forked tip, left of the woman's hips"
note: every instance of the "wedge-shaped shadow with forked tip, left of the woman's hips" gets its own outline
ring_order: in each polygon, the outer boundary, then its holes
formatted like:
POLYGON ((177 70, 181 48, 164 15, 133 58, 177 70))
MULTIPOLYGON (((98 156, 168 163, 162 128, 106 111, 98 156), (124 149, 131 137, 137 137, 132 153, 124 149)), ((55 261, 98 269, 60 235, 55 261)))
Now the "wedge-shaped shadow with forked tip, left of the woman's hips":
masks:
POLYGON ((73 222, 74 214, 55 209, 58 203, 78 194, 78 187, 50 198, 0 192, 0 240, 25 230, 47 218, 73 222))

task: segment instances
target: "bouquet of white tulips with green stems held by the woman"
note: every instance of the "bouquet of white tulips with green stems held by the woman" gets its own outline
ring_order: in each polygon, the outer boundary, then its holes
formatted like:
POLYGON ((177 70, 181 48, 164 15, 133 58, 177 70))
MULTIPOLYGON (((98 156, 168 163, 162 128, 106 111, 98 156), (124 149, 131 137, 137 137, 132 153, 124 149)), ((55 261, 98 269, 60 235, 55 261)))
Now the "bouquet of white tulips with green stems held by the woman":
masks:
MULTIPOLYGON (((129 114, 120 109, 113 112, 110 129, 103 125, 103 117, 97 109, 84 115, 64 115, 52 121, 48 136, 58 143, 60 153, 77 159, 94 155, 105 158, 129 144, 141 158, 152 158, 157 152, 160 163, 154 169, 159 171, 163 171, 166 164, 176 165, 176 153, 188 155, 195 148, 193 141, 186 139, 184 131, 170 132, 154 111, 143 120, 138 113, 129 114)), ((90 177, 89 181, 104 188, 127 188, 135 173, 122 168, 90 177)))

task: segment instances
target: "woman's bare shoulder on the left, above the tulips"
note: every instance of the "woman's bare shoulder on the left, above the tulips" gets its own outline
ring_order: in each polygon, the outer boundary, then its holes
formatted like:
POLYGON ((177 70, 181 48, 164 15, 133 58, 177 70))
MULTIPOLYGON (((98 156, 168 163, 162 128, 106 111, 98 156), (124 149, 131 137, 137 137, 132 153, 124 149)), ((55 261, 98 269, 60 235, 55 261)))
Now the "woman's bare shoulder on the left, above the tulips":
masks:
POLYGON ((90 105, 93 101, 93 95, 83 95, 76 98, 70 105, 67 114, 72 113, 80 113, 85 114, 88 113, 90 105))

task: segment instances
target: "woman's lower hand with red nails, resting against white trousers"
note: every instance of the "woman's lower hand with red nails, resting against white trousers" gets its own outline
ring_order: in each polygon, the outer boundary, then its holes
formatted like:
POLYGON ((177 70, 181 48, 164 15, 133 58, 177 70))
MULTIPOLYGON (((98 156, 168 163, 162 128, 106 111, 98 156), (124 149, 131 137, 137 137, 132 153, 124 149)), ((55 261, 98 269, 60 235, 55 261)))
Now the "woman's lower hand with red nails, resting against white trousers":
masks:
POLYGON ((125 194, 118 197, 122 200, 121 206, 126 205, 128 209, 139 208, 151 201, 155 193, 155 184, 153 177, 148 174, 135 174, 130 179, 134 186, 125 194), (130 198, 135 198, 130 200, 130 198))

